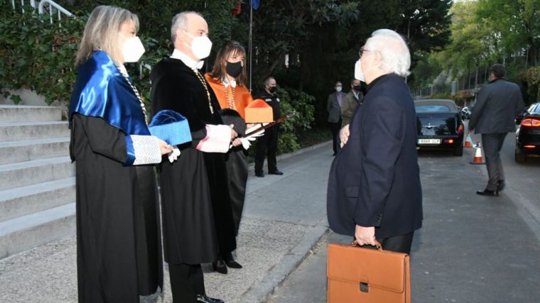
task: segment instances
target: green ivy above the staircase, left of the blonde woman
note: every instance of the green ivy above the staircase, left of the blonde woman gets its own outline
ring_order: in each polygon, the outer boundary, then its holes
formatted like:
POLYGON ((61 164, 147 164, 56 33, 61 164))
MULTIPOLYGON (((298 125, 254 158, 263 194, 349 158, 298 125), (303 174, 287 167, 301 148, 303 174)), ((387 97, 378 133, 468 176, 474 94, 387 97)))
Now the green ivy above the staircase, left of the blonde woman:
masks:
MULTIPOLYGON (((32 89, 50 104, 69 100, 75 83, 74 57, 85 18, 62 27, 50 24, 30 6, 25 13, 13 11, 8 1, 0 4, 0 93, 8 89, 32 89)), ((18 96, 10 97, 14 103, 18 96)))

